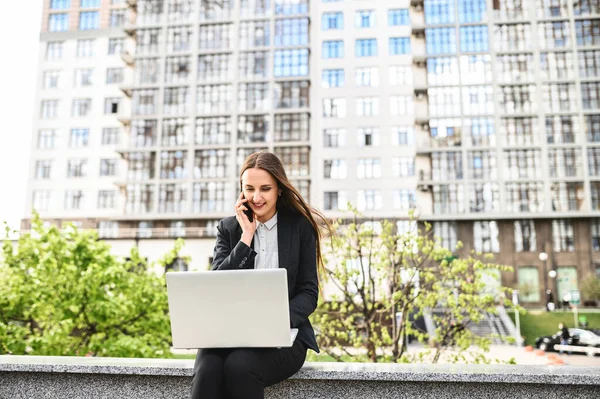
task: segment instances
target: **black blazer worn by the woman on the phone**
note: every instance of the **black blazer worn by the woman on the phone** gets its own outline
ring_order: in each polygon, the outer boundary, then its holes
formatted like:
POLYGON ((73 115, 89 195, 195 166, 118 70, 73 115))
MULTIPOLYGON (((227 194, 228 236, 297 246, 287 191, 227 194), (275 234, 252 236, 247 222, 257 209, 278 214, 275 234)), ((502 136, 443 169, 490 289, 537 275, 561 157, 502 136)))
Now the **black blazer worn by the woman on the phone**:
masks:
MULTIPOLYGON (((235 216, 217 226, 212 270, 253 269, 256 252, 240 241, 242 228, 235 216)), ((279 267, 287 269, 290 324, 307 348, 319 352, 315 332, 308 320, 319 297, 317 241, 312 225, 301 214, 277 213, 279 267)), ((253 245, 252 245, 253 246, 253 245)))

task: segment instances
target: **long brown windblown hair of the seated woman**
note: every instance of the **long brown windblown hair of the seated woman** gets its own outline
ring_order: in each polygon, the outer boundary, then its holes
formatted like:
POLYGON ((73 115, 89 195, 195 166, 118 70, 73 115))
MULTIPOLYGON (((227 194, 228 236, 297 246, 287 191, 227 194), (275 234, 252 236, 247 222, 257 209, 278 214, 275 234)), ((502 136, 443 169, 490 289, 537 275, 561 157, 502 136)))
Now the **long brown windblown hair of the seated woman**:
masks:
POLYGON ((240 169, 240 184, 246 169, 251 168, 266 170, 277 181, 277 186, 281 190, 281 196, 277 200, 278 210, 295 211, 308 219, 317 238, 317 270, 320 277, 325 277, 325 264, 321 254, 321 238, 323 237, 323 229, 329 234, 332 233, 329 220, 321 212, 308 205, 302 198, 296 187, 288 180, 285 168, 277 155, 265 151, 250 154, 244 160, 244 164, 240 169))

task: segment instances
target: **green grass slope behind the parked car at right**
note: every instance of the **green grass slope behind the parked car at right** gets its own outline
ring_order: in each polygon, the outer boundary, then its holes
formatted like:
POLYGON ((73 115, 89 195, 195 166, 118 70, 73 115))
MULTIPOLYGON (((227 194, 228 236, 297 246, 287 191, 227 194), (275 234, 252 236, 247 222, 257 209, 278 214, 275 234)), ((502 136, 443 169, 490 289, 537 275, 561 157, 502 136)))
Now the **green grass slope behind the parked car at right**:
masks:
MULTIPOLYGON (((515 321, 515 314, 508 313, 512 321, 515 321)), ((588 321, 587 328, 600 329, 600 313, 597 312, 579 312, 579 316, 585 315, 588 321)), ((521 335, 525 338, 526 345, 533 345, 536 337, 552 335, 558 331, 558 323, 563 322, 568 328, 574 327, 573 312, 545 312, 543 310, 532 310, 520 315, 521 335)))

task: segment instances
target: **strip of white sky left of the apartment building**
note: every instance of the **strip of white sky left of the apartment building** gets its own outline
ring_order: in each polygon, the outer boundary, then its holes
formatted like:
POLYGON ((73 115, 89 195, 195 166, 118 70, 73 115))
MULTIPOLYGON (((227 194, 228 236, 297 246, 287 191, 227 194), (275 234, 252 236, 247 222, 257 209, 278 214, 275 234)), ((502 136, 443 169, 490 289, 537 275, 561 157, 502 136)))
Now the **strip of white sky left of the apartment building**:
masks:
POLYGON ((42 0, 7 1, 0 13, 0 223, 25 215, 42 0))

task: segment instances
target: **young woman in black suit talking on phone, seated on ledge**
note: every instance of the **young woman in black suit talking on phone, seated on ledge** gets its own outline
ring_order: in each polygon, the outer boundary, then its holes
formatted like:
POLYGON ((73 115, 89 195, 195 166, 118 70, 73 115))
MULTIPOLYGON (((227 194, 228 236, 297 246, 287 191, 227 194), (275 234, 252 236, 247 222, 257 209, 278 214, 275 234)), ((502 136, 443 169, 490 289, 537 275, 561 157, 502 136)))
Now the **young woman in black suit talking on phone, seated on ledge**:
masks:
POLYGON ((308 349, 319 352, 308 316, 317 307, 317 264, 323 267, 320 227, 330 230, 330 224, 304 201, 274 154, 257 152, 246 158, 240 184, 235 216, 217 227, 212 269, 285 267, 290 324, 298 335, 290 348, 198 350, 192 399, 264 398, 265 387, 300 370, 308 349))

